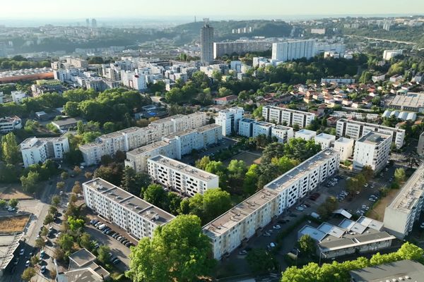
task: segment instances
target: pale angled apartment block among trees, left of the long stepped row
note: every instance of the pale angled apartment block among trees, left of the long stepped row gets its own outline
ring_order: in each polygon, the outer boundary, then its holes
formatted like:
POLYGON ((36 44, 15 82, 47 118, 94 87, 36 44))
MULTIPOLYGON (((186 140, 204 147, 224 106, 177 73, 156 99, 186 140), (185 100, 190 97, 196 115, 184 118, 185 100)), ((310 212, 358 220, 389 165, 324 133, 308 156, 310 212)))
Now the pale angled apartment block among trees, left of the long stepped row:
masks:
POLYGON ((23 166, 44 163, 47 159, 63 159, 64 154, 69 152, 68 137, 25 139, 20 143, 23 166))

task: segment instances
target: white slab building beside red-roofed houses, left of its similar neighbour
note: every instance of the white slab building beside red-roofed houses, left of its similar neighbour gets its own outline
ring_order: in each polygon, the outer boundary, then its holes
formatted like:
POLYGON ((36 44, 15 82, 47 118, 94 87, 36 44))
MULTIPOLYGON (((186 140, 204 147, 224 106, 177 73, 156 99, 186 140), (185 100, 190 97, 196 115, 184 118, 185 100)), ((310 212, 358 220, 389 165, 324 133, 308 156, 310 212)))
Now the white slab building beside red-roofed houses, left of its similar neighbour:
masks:
POLYGON ((288 126, 298 125, 305 128, 315 119, 315 114, 306 111, 297 111, 285 109, 278 106, 264 106, 262 108, 262 116, 265 121, 271 123, 284 124, 288 126))

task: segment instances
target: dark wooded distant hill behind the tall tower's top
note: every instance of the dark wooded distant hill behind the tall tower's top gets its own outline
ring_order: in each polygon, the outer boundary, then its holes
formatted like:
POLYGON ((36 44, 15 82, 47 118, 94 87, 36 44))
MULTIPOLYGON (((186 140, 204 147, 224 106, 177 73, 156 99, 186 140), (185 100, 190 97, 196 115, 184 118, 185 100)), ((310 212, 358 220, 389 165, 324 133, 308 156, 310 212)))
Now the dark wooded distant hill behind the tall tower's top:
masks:
MULTIPOLYGON (((200 29, 204 25, 203 21, 196 23, 185 23, 172 28, 173 32, 180 33, 184 38, 192 37, 199 39, 200 29)), ((214 28, 215 40, 238 39, 240 37, 264 36, 264 37, 288 37, 292 25, 283 21, 272 20, 221 20, 211 21, 209 25, 214 28), (252 27, 252 32, 232 34, 232 29, 252 27)))

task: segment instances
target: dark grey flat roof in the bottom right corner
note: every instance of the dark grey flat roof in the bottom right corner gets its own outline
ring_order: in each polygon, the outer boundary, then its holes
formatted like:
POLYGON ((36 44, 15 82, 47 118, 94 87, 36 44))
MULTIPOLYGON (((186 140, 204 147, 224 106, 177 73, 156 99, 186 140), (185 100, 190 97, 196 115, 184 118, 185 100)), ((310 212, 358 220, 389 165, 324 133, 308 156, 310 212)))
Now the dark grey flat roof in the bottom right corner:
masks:
POLYGON ((424 281, 424 265, 407 259, 365 267, 349 273, 354 282, 424 281))

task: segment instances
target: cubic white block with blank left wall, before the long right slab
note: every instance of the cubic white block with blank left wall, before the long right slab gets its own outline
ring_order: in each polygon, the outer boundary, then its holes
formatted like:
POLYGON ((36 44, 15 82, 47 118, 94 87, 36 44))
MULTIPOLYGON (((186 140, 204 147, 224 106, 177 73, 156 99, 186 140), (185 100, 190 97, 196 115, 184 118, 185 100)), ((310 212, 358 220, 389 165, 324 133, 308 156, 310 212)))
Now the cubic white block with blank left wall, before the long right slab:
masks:
POLYGON ((353 154, 353 169, 362 170, 370 166, 376 173, 389 161, 391 136, 383 133, 370 132, 355 142, 353 154))

